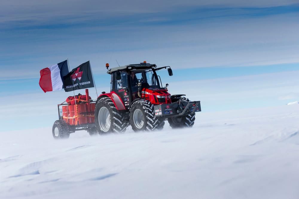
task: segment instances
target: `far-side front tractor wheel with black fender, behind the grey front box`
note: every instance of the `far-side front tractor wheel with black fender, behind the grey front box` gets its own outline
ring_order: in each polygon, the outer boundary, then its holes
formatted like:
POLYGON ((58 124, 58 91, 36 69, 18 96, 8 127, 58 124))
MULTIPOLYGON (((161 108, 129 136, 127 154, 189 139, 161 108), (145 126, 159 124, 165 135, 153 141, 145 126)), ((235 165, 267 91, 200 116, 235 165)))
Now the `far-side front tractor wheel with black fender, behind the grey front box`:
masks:
MULTIPOLYGON (((185 97, 177 97, 172 102, 176 101, 190 101, 188 98, 185 97)), ((192 127, 195 121, 195 113, 190 115, 184 115, 179 117, 172 117, 168 118, 168 123, 171 128, 183 128, 183 127, 192 127)))

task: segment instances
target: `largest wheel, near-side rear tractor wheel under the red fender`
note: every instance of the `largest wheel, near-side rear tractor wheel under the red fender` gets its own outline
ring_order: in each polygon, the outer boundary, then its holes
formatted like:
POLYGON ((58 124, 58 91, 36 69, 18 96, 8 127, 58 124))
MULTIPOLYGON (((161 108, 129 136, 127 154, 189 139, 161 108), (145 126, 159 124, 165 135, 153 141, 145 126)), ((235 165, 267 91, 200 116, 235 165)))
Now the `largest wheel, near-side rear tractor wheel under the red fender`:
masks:
POLYGON ((125 132, 128 126, 125 114, 116 109, 109 97, 97 101, 94 122, 99 134, 125 132))

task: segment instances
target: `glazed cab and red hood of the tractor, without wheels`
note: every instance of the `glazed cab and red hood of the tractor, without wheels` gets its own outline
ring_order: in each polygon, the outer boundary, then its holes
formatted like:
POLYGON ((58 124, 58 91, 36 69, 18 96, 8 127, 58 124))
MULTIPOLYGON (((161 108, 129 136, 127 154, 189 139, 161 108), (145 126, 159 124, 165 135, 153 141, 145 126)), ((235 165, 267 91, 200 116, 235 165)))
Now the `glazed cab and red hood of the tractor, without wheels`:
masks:
MULTIPOLYGON (((169 75, 172 75, 172 70, 167 67, 169 75)), ((129 109, 132 102, 139 98, 147 98, 152 104, 170 104, 170 94, 156 73, 167 67, 157 68, 155 64, 144 62, 112 68, 108 70, 111 75, 111 92, 120 97, 125 109, 129 109)))

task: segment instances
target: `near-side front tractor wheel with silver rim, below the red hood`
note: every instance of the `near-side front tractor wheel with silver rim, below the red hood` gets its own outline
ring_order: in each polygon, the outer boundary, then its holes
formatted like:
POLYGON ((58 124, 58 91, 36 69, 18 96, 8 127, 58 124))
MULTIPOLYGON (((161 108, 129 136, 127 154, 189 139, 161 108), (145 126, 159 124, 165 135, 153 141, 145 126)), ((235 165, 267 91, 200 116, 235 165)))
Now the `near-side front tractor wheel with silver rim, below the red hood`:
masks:
POLYGON ((158 126, 154 105, 148 100, 135 101, 130 108, 129 118, 132 129, 135 132, 151 131, 158 126))

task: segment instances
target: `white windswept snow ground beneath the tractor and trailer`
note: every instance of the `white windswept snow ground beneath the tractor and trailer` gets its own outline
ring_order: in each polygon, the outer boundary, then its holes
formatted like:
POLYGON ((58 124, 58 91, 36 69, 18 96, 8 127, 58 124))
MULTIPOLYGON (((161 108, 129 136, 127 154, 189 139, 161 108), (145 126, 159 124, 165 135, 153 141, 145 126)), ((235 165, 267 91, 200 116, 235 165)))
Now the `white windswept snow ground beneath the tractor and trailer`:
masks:
POLYGON ((191 129, 54 140, 0 132, 0 198, 299 198, 299 104, 196 113, 191 129))

